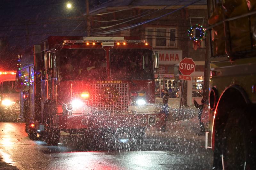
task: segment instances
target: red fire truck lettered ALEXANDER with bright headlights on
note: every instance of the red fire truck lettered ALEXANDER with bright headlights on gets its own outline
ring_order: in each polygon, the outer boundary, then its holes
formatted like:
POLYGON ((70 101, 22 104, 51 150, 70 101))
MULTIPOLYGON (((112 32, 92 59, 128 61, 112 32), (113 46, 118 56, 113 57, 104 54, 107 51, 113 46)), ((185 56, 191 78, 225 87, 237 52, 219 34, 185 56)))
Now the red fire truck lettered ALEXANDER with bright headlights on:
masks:
POLYGON ((143 137, 147 127, 164 127, 154 95, 159 57, 145 41, 50 36, 33 48, 19 57, 16 81, 31 139, 56 145, 64 131, 131 141, 126 131, 143 137))

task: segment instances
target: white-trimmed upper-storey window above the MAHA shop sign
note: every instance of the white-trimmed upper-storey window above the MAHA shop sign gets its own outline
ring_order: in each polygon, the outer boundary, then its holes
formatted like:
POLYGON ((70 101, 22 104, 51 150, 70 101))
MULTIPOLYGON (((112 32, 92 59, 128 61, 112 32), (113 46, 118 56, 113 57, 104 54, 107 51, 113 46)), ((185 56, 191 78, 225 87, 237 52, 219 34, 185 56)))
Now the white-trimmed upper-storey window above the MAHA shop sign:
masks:
POLYGON ((153 47, 177 47, 177 29, 173 27, 148 27, 146 28, 146 38, 148 44, 153 47))

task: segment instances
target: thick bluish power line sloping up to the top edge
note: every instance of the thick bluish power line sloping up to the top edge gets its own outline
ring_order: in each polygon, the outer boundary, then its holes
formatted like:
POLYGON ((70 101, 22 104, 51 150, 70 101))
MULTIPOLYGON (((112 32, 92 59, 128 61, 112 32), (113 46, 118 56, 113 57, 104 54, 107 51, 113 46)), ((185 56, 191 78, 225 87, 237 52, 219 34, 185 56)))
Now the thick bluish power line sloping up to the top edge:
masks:
POLYGON ((189 4, 187 4, 187 5, 184 5, 183 7, 180 7, 180 8, 178 8, 178 9, 172 11, 172 12, 168 12, 168 13, 166 13, 166 14, 164 14, 164 15, 159 16, 159 17, 156 17, 156 18, 153 18, 153 19, 149 19, 149 20, 147 20, 147 21, 143 21, 143 22, 134 24, 134 25, 132 25, 132 26, 128 26, 128 27, 124 27, 124 28, 119 28, 119 29, 114 29, 114 30, 105 31, 105 32, 96 32, 95 34, 110 34, 110 33, 122 31, 122 30, 125 30, 125 29, 133 28, 133 27, 138 27, 138 26, 140 26, 140 25, 149 23, 149 22, 154 21, 154 20, 156 20, 156 19, 160 19, 160 18, 162 18, 162 17, 164 17, 164 16, 166 16, 166 15, 170 15, 170 14, 176 12, 176 11, 179 11, 179 10, 181 10, 181 9, 183 9, 183 8, 189 6, 189 5, 195 4, 195 3, 199 2, 199 1, 201 1, 201 0, 196 0, 196 1, 192 2, 192 3, 189 3, 189 4))

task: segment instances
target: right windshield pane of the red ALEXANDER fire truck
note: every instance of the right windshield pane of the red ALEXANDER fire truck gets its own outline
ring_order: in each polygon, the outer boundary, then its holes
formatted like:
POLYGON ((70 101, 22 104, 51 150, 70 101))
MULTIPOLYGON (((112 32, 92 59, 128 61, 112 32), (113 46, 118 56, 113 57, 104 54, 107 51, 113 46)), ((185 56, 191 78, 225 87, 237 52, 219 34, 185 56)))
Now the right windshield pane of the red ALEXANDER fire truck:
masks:
POLYGON ((115 79, 154 79, 152 51, 110 49, 110 72, 115 79))

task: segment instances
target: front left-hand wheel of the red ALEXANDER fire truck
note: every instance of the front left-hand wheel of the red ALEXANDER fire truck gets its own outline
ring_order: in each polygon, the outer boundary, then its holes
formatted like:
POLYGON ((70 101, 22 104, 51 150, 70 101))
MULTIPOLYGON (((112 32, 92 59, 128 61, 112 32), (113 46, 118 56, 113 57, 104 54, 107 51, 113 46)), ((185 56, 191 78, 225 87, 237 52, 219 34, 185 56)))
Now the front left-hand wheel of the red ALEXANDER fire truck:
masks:
POLYGON ((48 145, 58 145, 60 141, 60 130, 56 128, 47 128, 45 131, 45 142, 48 145))

